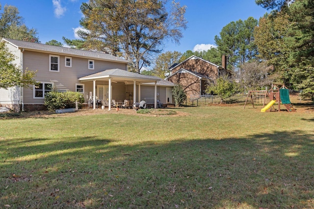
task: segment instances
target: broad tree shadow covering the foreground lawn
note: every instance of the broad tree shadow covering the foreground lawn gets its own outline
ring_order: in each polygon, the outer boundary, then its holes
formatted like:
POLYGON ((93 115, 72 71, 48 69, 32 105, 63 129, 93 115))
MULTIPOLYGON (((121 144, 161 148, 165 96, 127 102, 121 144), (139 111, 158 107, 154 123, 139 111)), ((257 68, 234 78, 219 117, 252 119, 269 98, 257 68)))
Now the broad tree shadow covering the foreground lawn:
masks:
POLYGON ((314 207, 314 135, 302 131, 123 145, 89 137, 6 143, 0 203, 13 208, 26 200, 30 208, 314 207))

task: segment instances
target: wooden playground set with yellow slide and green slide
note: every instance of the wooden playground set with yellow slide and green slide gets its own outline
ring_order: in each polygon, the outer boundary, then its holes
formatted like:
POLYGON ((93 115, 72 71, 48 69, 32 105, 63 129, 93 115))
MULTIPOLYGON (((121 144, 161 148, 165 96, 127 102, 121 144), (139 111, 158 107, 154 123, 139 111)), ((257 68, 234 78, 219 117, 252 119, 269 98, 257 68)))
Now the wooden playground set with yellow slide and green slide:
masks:
MULTIPOLYGON (((278 86, 280 86, 280 85, 278 85, 278 86)), ((247 102, 249 96, 251 97, 253 108, 255 108, 254 107, 254 101, 253 101, 253 95, 256 93, 257 95, 260 96, 260 98, 263 97, 263 108, 262 108, 261 112, 266 112, 266 110, 268 110, 268 109, 270 109, 270 111, 272 111, 272 108, 274 109, 274 111, 276 111, 276 109, 273 107, 273 105, 276 102, 278 103, 278 112, 280 112, 280 103, 282 103, 285 106, 285 108, 287 109, 287 111, 289 113, 295 112, 295 109, 290 102, 288 88, 285 85, 281 85, 280 88, 278 86, 273 85, 269 91, 266 91, 266 90, 249 91, 247 94, 243 109, 245 108, 245 105, 246 105, 246 102, 247 102), (269 97, 270 102, 265 106, 267 96, 269 97)))

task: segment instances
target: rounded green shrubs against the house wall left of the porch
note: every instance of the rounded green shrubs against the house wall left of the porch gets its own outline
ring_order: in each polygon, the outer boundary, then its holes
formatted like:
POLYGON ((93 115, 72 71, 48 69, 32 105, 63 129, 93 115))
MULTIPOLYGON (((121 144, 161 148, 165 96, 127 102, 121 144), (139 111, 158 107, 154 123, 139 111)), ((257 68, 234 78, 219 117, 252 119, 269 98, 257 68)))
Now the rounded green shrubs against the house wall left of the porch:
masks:
POLYGON ((45 106, 50 111, 64 108, 75 108, 75 102, 78 101, 78 108, 81 108, 81 104, 84 100, 84 95, 78 92, 60 93, 52 91, 45 95, 45 106))

